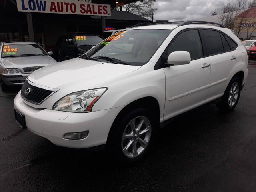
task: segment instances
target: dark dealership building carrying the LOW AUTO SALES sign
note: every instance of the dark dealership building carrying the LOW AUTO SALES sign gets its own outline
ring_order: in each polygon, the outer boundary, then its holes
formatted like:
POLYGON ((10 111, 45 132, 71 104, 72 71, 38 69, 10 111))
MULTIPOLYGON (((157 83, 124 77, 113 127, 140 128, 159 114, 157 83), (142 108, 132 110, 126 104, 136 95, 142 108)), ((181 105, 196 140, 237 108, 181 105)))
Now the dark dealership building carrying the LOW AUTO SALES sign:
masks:
POLYGON ((146 18, 124 11, 114 11, 137 0, 1 0, 0 42, 33 41, 47 51, 53 50, 59 36, 109 29, 123 29, 146 18))

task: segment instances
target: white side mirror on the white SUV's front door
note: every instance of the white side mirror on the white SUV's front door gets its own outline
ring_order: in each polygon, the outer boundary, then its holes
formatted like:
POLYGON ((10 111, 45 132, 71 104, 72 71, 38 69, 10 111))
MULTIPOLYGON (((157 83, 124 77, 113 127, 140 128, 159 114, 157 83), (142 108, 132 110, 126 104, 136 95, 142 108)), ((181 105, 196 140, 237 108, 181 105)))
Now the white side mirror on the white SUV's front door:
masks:
POLYGON ((191 61, 190 53, 187 51, 174 51, 170 53, 167 59, 167 64, 172 65, 186 65, 191 61))

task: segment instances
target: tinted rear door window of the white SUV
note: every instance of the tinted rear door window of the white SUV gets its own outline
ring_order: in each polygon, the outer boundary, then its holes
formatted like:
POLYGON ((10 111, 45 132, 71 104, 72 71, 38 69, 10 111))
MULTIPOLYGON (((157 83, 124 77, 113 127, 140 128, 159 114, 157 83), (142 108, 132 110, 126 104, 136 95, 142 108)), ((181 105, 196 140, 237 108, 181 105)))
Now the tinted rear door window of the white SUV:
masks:
POLYGON ((206 45, 206 55, 213 55, 224 52, 220 32, 203 29, 204 41, 206 45))

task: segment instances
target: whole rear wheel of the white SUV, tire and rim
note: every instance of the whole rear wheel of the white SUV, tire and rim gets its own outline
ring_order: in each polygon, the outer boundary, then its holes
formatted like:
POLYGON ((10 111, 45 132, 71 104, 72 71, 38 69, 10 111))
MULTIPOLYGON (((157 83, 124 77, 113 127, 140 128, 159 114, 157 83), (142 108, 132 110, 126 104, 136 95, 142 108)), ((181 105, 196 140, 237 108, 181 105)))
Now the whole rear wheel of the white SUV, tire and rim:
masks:
POLYGON ((217 104, 217 107, 225 111, 233 110, 240 98, 241 89, 241 80, 238 77, 232 78, 222 96, 222 101, 217 104))

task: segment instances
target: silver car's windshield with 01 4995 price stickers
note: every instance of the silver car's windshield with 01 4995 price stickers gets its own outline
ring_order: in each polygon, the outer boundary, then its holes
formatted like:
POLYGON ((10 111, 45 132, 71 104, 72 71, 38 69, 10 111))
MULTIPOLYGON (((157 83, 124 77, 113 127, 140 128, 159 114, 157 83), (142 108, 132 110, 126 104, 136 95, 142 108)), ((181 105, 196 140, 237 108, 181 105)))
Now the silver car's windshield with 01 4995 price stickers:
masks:
POLYGON ((2 58, 44 56, 46 52, 38 44, 4 44, 2 58))

